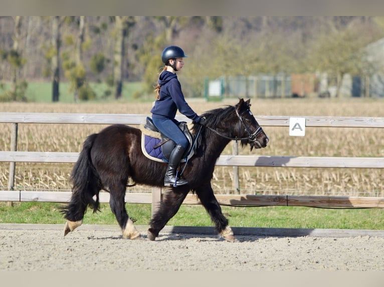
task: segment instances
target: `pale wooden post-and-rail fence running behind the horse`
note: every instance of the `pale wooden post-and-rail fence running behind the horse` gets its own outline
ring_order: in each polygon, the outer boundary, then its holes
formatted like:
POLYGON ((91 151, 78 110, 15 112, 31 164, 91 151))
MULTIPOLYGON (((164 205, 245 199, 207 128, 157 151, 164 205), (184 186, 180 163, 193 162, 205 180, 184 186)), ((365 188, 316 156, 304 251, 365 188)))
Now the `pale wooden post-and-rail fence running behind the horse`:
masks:
MULTIPOLYGON (((142 124, 145 114, 96 114, 96 113, 30 113, 1 112, 0 122, 12 124, 11 150, 0 151, 0 161, 10 162, 9 190, 0 191, 0 201, 68 202, 70 191, 14 190, 15 162, 76 162, 78 152, 17 151, 18 124, 71 123, 71 124, 142 124)), ((178 120, 189 121, 178 115, 178 120)), ((289 116, 257 116, 265 126, 289 126, 289 116)), ((384 128, 384 117, 331 117, 305 116, 306 126, 312 127, 373 127, 384 128)), ((221 155, 216 165, 270 166, 270 167, 342 167, 384 168, 384 157, 316 157, 316 156, 257 156, 221 155)), ((299 195, 247 195, 216 194, 221 205, 231 206, 309 206, 309 207, 384 207, 384 197, 360 196, 299 196, 299 195)), ((151 203, 152 212, 161 204, 161 189, 150 193, 127 193, 129 203, 151 203)), ((100 202, 108 202, 109 193, 100 193, 100 202)), ((188 194, 184 204, 200 204, 199 199, 188 194)))

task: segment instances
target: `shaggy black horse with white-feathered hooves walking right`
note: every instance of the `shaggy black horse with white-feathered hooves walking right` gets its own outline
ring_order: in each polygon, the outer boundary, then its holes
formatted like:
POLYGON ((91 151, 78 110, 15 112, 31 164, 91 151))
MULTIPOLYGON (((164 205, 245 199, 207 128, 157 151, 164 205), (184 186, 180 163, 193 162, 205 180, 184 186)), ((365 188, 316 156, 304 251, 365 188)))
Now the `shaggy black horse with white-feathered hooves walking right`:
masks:
MULTIPOLYGON (((250 111, 250 100, 240 99, 229 105, 205 112, 207 125, 193 124, 192 133, 200 131, 200 144, 183 170, 186 185, 171 187, 151 218, 148 239, 154 240, 168 220, 176 214, 187 193, 197 194, 211 216, 216 232, 227 240, 235 240, 228 219, 217 201, 211 179, 215 162, 230 140, 239 140, 241 146, 265 147, 268 137, 250 111)), ((64 236, 83 222, 87 205, 93 212, 99 209, 99 191, 110 192, 109 204, 115 214, 124 238, 142 239, 125 209, 125 192, 129 178, 136 183, 163 186, 167 164, 148 159, 141 151, 141 130, 124 124, 110 125, 91 134, 84 142, 73 167, 70 203, 63 207, 67 219, 64 236), (95 199, 94 199, 95 196, 95 199)), ((184 167, 183 167, 184 168, 184 167)))

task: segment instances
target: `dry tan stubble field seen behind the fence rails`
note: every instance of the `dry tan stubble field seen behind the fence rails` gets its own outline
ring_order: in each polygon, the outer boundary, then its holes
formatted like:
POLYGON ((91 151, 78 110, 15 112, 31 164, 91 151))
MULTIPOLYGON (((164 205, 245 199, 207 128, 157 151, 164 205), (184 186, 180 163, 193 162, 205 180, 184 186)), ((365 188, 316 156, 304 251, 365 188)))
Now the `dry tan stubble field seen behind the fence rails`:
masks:
MULTIPOLYGON (((237 99, 206 102, 189 99, 198 113, 237 99)), ((290 116, 383 116, 384 99, 253 99, 252 112, 257 115, 290 116)), ((69 112, 69 113, 143 113, 149 114, 151 103, 1 103, 0 112, 69 112)), ((11 124, 0 123, 0 148, 10 150, 11 124)), ((80 151, 87 135, 104 125, 87 124, 19 124, 20 151, 80 151)), ((290 156, 384 156, 383 128, 307 127, 306 135, 289 136, 288 127, 264 126, 269 146, 253 150, 258 155, 290 156)), ((224 154, 232 154, 229 144, 224 154)), ((239 148, 239 154, 250 154, 239 148)), ((26 190, 70 190, 69 174, 73 164, 17 163, 15 186, 26 190)), ((0 188, 7 189, 9 163, 0 162, 0 188)), ((240 167, 241 193, 314 194, 349 196, 384 196, 384 174, 374 168, 294 168, 240 167)), ((232 167, 218 166, 212 181, 215 192, 234 193, 232 167)), ((132 191, 149 190, 136 186, 132 191)))

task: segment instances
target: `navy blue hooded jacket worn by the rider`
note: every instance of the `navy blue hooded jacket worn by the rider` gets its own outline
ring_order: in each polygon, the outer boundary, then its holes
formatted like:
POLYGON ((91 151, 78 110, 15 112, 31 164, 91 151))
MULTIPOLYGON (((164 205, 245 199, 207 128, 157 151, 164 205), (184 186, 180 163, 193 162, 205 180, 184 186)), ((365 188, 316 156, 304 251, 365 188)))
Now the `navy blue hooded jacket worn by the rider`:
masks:
POLYGON ((174 118, 178 109, 180 113, 191 120, 200 121, 200 116, 186 103, 175 73, 161 72, 158 83, 161 86, 160 98, 156 99, 151 109, 152 116, 174 118))

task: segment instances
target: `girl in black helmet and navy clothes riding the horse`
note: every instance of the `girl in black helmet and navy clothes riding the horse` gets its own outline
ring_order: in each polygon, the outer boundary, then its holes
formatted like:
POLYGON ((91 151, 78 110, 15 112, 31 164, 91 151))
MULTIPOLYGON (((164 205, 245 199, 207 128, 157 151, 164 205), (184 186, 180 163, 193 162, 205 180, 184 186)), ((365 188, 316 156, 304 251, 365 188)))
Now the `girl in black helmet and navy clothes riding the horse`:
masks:
POLYGON ((176 178, 177 165, 189 145, 184 133, 177 126, 178 121, 174 118, 177 110, 197 123, 204 125, 205 121, 205 118, 200 117, 185 101, 175 73, 183 67, 184 57, 187 55, 178 46, 168 46, 162 51, 161 60, 165 66, 157 80, 155 89, 157 96, 151 109, 153 123, 176 144, 169 156, 164 176, 165 186, 179 186, 188 183, 185 179, 176 178))

